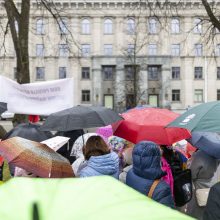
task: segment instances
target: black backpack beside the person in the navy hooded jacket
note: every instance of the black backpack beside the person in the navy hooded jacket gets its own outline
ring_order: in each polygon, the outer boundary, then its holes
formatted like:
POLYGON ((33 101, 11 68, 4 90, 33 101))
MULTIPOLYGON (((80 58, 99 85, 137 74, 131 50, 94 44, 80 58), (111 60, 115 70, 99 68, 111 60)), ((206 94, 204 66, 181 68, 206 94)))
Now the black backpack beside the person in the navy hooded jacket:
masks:
POLYGON ((179 155, 172 149, 167 149, 164 154, 170 165, 173 175, 173 189, 175 205, 181 207, 192 198, 192 176, 190 169, 183 169, 183 163, 179 155))

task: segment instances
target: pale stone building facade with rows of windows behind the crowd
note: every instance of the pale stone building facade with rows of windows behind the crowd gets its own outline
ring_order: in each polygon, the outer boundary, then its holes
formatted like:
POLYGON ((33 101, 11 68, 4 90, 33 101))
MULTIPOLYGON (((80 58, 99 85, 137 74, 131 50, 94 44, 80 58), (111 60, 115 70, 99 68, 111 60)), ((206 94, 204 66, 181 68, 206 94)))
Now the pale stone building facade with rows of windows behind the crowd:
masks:
MULTIPOLYGON (((32 82, 73 77, 75 105, 117 111, 136 102, 181 112, 220 100, 220 34, 210 36, 200 0, 61 0, 54 6, 57 21, 32 2, 32 82)), ((3 30, 3 5, 0 21, 3 30)), ((1 34, 1 74, 16 80, 11 36, 1 34)))

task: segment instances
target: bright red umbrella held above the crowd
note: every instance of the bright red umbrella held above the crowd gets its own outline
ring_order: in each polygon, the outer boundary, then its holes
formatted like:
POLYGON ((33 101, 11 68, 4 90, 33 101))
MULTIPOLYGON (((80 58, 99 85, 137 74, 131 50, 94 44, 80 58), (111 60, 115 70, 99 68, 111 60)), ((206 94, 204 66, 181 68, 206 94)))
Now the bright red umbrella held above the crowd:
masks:
POLYGON ((124 120, 112 125, 114 135, 133 143, 142 140, 153 141, 160 145, 171 145, 179 140, 191 137, 183 128, 166 128, 179 114, 167 109, 132 109, 123 113, 124 120))

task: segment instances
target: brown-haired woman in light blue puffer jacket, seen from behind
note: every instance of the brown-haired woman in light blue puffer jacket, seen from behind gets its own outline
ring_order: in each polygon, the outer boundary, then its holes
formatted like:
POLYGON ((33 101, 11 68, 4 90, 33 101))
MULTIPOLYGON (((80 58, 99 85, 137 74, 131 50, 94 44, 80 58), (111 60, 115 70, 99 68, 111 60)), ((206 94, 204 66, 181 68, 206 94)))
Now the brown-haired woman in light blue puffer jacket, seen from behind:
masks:
POLYGON ((91 136, 83 147, 86 160, 84 168, 80 170, 80 177, 109 175, 118 179, 119 158, 111 152, 108 145, 100 136, 91 136))

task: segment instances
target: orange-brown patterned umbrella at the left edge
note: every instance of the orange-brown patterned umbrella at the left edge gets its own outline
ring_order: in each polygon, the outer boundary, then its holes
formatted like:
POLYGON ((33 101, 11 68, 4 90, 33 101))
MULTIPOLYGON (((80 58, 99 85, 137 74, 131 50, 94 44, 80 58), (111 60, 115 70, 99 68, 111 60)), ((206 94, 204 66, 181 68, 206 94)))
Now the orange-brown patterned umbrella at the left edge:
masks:
POLYGON ((0 142, 0 154, 8 163, 40 177, 73 177, 67 159, 45 144, 13 137, 0 142))

